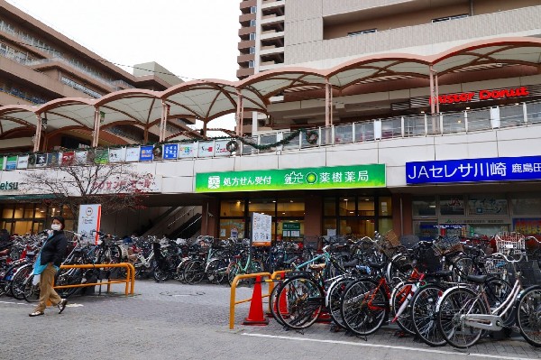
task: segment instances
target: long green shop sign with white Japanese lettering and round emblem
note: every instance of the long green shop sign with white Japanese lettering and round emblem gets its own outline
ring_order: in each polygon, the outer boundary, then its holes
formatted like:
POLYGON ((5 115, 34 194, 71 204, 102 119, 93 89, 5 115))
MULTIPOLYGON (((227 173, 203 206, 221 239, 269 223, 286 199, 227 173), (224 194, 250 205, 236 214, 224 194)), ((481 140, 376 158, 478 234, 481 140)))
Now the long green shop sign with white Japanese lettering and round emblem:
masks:
POLYGON ((385 185, 385 164, 196 174, 196 192, 384 188, 385 185))

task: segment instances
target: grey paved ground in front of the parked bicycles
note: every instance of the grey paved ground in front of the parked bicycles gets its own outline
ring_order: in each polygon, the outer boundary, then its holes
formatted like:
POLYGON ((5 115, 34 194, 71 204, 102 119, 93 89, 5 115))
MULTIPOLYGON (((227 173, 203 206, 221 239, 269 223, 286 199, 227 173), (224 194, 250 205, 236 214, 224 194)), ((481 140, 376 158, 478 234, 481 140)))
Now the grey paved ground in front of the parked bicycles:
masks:
MULTIPOLYGON (((114 291, 124 291, 115 285, 114 291)), ((138 281, 136 295, 73 297, 62 314, 47 309, 29 318, 32 305, 0 297, 0 359, 539 359, 541 349, 511 337, 483 339, 470 353, 431 348, 397 337, 394 326, 367 339, 346 337, 316 324, 304 333, 240 325, 249 304, 237 306, 229 324, 230 289, 209 284, 138 281)), ((241 288, 237 299, 252 289, 241 288)))

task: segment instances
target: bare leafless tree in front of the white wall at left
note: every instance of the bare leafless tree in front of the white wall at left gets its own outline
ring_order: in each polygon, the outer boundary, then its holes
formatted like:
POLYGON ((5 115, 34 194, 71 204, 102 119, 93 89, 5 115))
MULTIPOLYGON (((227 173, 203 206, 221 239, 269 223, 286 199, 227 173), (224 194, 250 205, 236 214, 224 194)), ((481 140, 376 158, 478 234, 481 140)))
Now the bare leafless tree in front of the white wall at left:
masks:
POLYGON ((77 221, 81 204, 101 204, 105 214, 144 208, 151 181, 151 174, 134 172, 129 163, 73 158, 62 165, 25 171, 20 186, 30 193, 50 195, 51 201, 67 206, 77 221))

